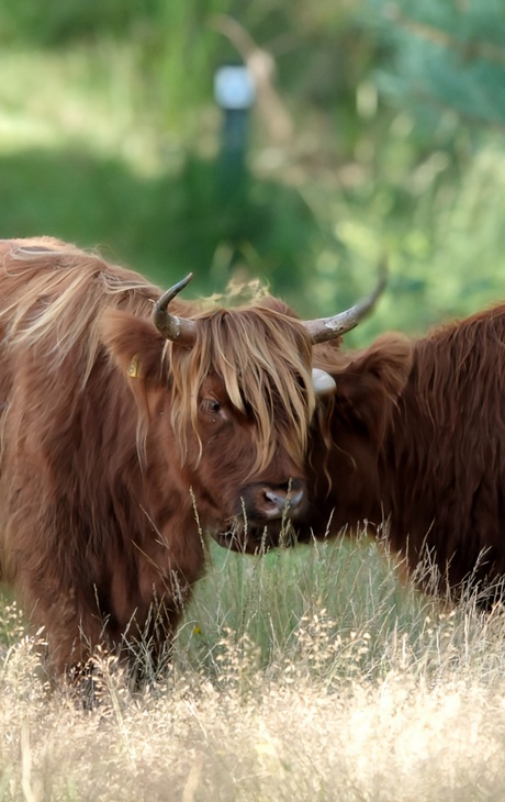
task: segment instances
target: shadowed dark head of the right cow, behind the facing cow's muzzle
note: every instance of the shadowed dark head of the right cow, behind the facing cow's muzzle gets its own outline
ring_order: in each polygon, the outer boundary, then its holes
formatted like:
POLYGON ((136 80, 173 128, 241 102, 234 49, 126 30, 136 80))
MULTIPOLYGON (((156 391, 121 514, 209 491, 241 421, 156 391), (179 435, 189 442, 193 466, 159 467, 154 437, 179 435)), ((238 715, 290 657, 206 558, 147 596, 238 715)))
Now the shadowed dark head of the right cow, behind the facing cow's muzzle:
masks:
MULTIPOLYGON (((307 502, 287 527, 249 526, 229 542, 236 550, 260 550, 280 543, 306 543, 383 519, 381 453, 397 398, 412 365, 412 344, 401 335, 379 337, 367 350, 316 347, 314 363, 336 382, 321 399, 310 430, 305 480, 307 502)), ((393 435, 394 436, 394 435, 393 435)), ((226 538, 222 535, 222 542, 226 538)))

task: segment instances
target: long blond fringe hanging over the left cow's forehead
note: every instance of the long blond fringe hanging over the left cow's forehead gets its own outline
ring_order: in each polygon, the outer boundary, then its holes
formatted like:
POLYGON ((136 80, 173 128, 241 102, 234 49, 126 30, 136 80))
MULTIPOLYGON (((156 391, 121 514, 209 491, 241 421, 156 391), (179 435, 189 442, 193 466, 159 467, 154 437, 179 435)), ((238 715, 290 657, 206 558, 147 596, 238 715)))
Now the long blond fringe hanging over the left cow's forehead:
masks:
POLYGON ((169 345, 173 398, 172 425, 184 433, 195 428, 198 396, 209 366, 223 377, 233 405, 251 415, 257 438, 252 472, 272 461, 279 441, 294 463, 304 459, 308 425, 315 408, 307 365, 311 346, 303 324, 267 305, 254 309, 217 310, 194 316, 197 344, 191 349, 169 345), (300 382, 293 382, 293 376, 300 382), (272 409, 277 411, 272 420, 272 409), (293 436, 294 435, 294 436, 293 436))

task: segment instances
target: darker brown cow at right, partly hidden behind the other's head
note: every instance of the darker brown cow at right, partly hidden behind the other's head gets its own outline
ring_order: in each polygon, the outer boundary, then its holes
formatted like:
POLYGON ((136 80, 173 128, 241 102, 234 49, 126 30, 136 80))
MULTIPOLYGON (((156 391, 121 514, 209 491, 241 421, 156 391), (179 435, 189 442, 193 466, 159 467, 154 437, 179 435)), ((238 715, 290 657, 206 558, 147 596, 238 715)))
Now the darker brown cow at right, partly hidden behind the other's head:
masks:
POLYGON ((411 569, 435 562, 442 592, 503 579, 505 307, 412 344, 325 345, 315 364, 337 392, 313 434, 301 539, 385 523, 411 569))

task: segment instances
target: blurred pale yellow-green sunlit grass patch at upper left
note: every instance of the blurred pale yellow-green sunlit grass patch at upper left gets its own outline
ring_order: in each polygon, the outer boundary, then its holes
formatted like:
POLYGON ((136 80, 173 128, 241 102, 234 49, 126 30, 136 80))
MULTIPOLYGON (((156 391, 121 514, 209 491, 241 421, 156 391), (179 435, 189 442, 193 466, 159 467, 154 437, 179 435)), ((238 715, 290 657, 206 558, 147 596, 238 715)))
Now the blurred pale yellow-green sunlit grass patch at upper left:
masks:
POLYGON ((0 152, 81 148, 146 176, 177 166, 181 146, 162 115, 149 113, 137 59, 113 41, 0 54, 0 152))

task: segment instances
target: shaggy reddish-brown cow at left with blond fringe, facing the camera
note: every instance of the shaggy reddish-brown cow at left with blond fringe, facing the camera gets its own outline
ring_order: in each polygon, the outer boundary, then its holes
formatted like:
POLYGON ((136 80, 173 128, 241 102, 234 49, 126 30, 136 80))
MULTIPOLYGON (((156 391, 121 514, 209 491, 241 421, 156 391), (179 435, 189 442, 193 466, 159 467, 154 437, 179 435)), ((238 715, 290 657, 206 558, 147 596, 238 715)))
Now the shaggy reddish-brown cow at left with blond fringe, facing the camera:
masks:
POLYGON ((56 671, 141 633, 156 659, 201 532, 305 503, 317 323, 173 301, 186 283, 160 299, 75 246, 0 244, 1 575, 56 671))

